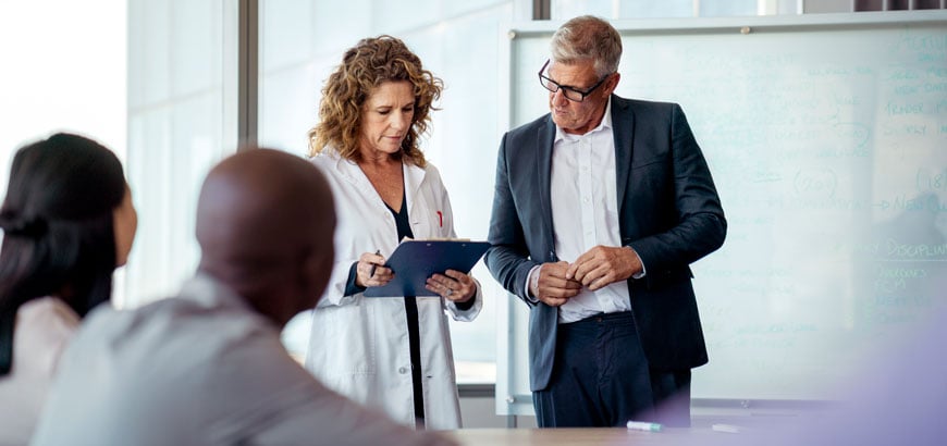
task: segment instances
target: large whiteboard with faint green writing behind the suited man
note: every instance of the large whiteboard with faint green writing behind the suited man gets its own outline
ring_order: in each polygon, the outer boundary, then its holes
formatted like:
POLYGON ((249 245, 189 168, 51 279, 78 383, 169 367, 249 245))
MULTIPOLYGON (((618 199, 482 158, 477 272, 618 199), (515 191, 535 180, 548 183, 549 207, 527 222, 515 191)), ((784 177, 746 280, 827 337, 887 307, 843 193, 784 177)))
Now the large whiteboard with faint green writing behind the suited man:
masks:
MULTIPOLYGON (((681 104, 729 223, 693 264, 693 398, 831 399, 945 306, 947 12, 613 23, 616 92, 681 104)), ((558 25, 508 35, 509 128, 548 112, 536 73, 558 25)), ((514 300, 501 413, 530 410, 514 300)))

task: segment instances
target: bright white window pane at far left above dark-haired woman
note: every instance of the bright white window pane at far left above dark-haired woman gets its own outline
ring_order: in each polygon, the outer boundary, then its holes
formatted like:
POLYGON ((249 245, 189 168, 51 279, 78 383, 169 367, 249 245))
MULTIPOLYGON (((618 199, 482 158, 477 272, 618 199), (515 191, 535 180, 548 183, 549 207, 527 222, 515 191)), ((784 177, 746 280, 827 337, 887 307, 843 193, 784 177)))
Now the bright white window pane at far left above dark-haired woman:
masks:
MULTIPOLYGON (((125 11, 124 0, 0 2, 0 194, 15 150, 56 132, 126 159, 125 11)), ((120 272, 116 300, 122 280, 120 272)))

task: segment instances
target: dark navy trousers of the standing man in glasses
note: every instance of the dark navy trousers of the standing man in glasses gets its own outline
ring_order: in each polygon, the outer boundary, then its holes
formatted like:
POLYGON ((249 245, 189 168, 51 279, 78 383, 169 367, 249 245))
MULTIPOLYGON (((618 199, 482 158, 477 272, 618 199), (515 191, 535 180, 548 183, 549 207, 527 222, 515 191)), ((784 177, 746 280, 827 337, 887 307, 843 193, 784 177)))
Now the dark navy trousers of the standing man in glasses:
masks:
POLYGON ((540 428, 690 425, 690 370, 656 372, 630 312, 561 324, 546 388, 533 392, 540 428))

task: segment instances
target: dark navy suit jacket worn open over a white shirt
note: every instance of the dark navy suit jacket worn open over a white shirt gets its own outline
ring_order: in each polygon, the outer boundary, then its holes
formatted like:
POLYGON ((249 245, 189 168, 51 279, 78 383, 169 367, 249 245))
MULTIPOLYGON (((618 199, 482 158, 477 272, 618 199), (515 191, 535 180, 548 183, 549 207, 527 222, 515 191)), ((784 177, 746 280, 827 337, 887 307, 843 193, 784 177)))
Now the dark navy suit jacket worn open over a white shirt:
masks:
MULTIPOLYGON (((652 370, 706 363, 689 264, 723 245, 726 220, 706 161, 678 104, 612 96, 622 244, 647 274, 628 280, 638 334, 652 370)), ((558 261, 550 207, 555 124, 546 114, 503 136, 484 262, 530 306, 530 388, 553 369, 557 309, 524 295, 532 267, 558 261)), ((569 259, 575 260, 575 259, 569 259)))

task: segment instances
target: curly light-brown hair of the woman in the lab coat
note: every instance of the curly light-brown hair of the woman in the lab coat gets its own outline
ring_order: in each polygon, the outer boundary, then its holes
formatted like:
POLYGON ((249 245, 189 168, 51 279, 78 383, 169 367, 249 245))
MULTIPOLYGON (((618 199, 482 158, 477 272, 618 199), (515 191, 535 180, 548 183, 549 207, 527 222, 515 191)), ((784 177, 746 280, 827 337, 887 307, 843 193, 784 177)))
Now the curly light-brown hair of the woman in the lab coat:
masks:
POLYGON ((425 70, 420 58, 401 39, 388 35, 361 39, 345 51, 342 64, 325 80, 319 103, 319 124, 309 131, 309 156, 332 147, 343 158, 360 161, 362 106, 372 89, 393 80, 409 82, 415 94, 410 131, 398 157, 423 168, 427 162, 418 139, 430 127, 430 112, 438 110, 433 102, 441 97, 444 83, 425 70))

